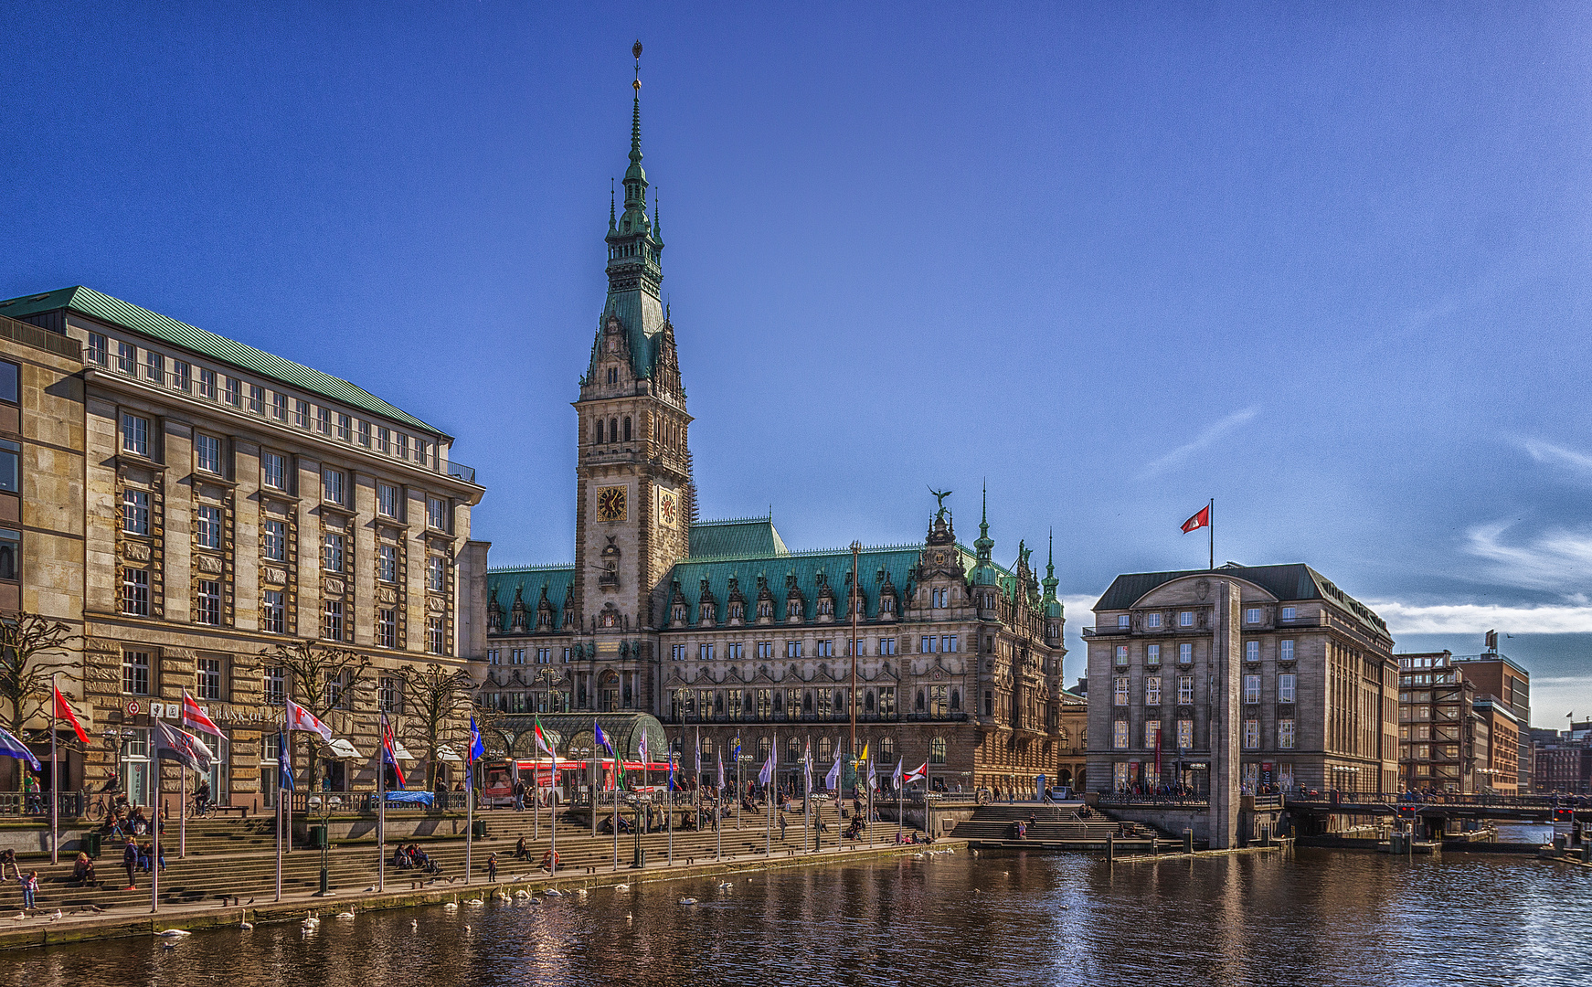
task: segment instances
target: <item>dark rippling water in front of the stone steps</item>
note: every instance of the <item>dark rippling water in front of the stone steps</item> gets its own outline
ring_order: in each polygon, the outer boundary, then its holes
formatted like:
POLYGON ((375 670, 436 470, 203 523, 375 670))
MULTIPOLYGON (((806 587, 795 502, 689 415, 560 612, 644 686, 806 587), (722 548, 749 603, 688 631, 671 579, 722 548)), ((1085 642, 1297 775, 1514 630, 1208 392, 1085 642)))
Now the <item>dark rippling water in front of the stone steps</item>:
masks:
POLYGON ((65 946, 25 987, 1592 982, 1592 872, 1379 853, 1116 864, 957 855, 65 946), (681 906, 694 896, 699 904, 681 906), (411 933, 411 920, 419 931, 411 933), (468 931, 465 927, 468 925, 468 931))

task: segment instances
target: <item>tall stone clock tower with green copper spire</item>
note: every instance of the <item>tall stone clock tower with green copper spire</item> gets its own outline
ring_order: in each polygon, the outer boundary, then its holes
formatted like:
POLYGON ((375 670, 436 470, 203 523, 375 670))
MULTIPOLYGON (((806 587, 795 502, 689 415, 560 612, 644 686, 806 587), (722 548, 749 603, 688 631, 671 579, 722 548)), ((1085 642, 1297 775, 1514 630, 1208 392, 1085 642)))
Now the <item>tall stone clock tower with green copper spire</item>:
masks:
MULTIPOLYGON (((624 210, 608 205, 608 301, 575 401, 578 449, 575 607, 594 657, 654 645, 653 589, 686 556, 693 489, 686 392, 659 296, 664 240, 646 215, 642 170, 642 43, 630 116, 624 210), (621 648, 622 645, 622 648, 621 648)), ((651 657, 651 656, 646 656, 651 657)))

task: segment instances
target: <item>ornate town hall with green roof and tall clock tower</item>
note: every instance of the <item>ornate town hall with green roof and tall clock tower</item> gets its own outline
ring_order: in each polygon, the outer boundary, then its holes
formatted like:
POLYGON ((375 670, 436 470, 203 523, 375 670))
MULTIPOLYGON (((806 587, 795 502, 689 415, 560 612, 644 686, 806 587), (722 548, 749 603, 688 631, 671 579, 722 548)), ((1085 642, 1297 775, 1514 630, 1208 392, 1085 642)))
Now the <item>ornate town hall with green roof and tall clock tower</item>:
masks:
MULTIPOLYGON (((575 560, 486 576, 476 681, 501 712, 497 750, 533 756, 537 715, 589 735, 594 713, 651 713, 686 764, 700 735, 705 775, 718 758, 734 770, 739 739, 743 778, 777 745, 790 783, 809 743, 820 772, 849 745, 856 702, 856 745, 880 774, 904 758, 928 761, 950 790, 1068 782, 1083 767, 1083 737, 1068 735, 1081 732, 1083 699, 1060 685, 1052 559, 1044 578, 1024 543, 1011 565, 995 562, 987 513, 965 546, 944 498, 922 541, 861 548, 855 573, 850 548, 786 548, 772 513, 697 519, 638 84, 622 194, 575 401, 575 560)), ((559 755, 591 756, 579 747, 559 755)))

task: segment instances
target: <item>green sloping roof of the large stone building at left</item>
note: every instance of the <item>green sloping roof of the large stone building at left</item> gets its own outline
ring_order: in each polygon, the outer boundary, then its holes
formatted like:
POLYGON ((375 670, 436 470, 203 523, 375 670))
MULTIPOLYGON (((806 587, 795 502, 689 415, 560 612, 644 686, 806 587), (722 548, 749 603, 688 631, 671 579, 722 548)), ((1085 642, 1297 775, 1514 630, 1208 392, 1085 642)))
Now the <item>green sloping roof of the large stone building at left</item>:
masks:
POLYGON ((350 384, 342 377, 333 377, 331 374, 304 366, 302 363, 293 363, 291 360, 283 360, 274 353, 256 350, 255 347, 237 342, 236 339, 217 336, 215 333, 191 326, 185 322, 167 318, 159 312, 151 312, 132 302, 121 301, 119 298, 102 295, 94 288, 76 285, 73 288, 60 288, 59 291, 49 291, 46 295, 29 295, 0 302, 0 315, 10 315, 11 318, 24 318, 27 315, 54 312, 57 309, 70 309, 72 312, 80 312, 124 330, 145 333, 161 342, 180 345, 199 353, 201 357, 229 363, 263 377, 271 377, 272 380, 290 384, 299 390, 339 401, 349 408, 368 411, 384 419, 401 422, 422 431, 430 431, 431 435, 447 435, 433 425, 427 425, 412 414, 393 408, 363 387, 350 384))

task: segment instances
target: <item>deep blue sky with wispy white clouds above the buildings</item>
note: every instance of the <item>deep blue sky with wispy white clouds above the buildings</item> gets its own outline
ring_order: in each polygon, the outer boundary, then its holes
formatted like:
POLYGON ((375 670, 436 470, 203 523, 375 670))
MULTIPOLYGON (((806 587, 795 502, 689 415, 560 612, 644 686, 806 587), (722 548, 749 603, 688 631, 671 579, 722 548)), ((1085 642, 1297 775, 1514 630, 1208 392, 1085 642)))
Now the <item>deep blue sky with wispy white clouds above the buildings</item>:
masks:
POLYGON ((570 557, 629 46, 705 516, 1119 572, 1304 560, 1592 713, 1592 11, 37 5, 0 296, 86 283, 458 436, 570 557), (677 304, 673 304, 677 302, 677 304), (1043 549, 1041 549, 1043 551, 1043 549))

